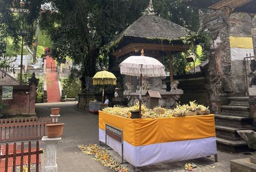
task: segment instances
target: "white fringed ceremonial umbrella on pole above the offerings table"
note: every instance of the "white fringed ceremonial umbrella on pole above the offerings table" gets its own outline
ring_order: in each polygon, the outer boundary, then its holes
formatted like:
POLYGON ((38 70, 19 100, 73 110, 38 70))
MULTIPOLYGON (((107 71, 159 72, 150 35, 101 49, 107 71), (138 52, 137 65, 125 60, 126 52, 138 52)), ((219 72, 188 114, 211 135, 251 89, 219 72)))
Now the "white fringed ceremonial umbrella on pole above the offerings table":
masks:
POLYGON ((155 58, 144 56, 141 50, 141 56, 130 56, 119 64, 121 74, 130 76, 140 76, 140 101, 139 118, 141 118, 141 85, 142 77, 160 77, 166 76, 165 66, 155 58))

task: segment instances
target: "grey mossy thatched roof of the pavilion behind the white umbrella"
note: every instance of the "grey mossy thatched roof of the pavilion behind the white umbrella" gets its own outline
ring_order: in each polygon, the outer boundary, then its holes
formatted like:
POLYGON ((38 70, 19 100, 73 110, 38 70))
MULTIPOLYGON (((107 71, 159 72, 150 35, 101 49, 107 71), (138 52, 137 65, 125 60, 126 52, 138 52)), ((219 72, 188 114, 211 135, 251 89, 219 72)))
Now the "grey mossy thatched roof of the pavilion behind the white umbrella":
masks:
POLYGON ((180 37, 186 36, 188 32, 190 30, 172 21, 152 14, 144 14, 109 42, 107 46, 112 47, 121 42, 125 37, 175 41, 179 40, 180 37))

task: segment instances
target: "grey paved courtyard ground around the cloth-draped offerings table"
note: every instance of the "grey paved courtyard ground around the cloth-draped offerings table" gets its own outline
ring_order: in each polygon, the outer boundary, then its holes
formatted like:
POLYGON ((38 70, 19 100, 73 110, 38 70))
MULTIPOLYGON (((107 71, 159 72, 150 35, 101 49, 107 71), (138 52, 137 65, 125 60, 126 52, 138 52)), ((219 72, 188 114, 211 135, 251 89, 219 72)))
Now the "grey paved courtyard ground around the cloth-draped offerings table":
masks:
MULTIPOLYGON (((58 171, 114 171, 113 169, 109 169, 109 167, 104 167, 100 162, 93 160, 92 155, 84 155, 77 148, 79 144, 99 144, 98 115, 91 114, 88 112, 88 109, 78 109, 74 101, 69 101, 65 103, 36 104, 37 116, 49 116, 51 112, 50 108, 54 107, 61 108, 59 123, 65 123, 62 140, 58 142, 57 148, 58 171)), ((47 153, 44 142, 40 141, 40 147, 44 149, 44 154, 47 153)), ((121 161, 120 156, 115 151, 112 151, 112 153, 113 156, 121 161)), ((246 155, 248 153, 251 152, 232 153, 218 151, 218 162, 215 162, 214 156, 212 156, 209 158, 145 166, 141 167, 141 171, 186 171, 184 170, 184 164, 186 163, 194 163, 198 166, 193 171, 230 171, 229 161, 232 159, 248 158, 251 156, 246 155)), ((45 157, 45 155, 42 155, 42 169, 44 168, 45 157)), ((125 165, 129 171, 134 171, 134 167, 131 164, 125 165)))

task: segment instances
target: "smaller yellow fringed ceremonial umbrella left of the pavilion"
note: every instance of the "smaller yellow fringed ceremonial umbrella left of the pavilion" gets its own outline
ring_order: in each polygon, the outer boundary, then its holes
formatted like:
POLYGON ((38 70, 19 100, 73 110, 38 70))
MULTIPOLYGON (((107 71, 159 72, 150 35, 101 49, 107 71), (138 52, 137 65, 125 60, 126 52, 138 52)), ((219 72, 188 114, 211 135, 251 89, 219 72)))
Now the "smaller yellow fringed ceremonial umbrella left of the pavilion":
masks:
POLYGON ((116 76, 108 71, 99 71, 93 76, 93 85, 103 85, 102 103, 104 103, 104 86, 116 85, 116 76))

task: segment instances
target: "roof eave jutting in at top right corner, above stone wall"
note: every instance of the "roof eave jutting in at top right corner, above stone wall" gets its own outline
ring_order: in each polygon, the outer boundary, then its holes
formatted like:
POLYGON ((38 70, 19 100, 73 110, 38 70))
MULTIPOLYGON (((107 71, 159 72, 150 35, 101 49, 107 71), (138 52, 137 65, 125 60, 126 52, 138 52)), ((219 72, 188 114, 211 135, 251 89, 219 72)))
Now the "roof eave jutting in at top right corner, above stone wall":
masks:
POLYGON ((183 3, 197 8, 256 13, 256 0, 183 0, 183 3))

